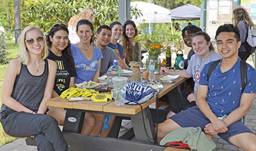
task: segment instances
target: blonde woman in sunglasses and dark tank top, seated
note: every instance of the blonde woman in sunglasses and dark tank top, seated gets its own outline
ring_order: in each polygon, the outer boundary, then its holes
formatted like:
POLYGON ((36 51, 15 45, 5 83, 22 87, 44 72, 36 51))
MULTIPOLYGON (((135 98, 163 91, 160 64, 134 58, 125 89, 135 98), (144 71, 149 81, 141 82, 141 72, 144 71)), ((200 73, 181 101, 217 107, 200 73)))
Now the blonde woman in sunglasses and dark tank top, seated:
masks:
POLYGON ((10 136, 31 136, 37 150, 68 150, 55 118, 45 115, 45 100, 52 97, 56 63, 47 60, 44 33, 26 27, 19 36, 19 57, 6 70, 0 120, 10 136))

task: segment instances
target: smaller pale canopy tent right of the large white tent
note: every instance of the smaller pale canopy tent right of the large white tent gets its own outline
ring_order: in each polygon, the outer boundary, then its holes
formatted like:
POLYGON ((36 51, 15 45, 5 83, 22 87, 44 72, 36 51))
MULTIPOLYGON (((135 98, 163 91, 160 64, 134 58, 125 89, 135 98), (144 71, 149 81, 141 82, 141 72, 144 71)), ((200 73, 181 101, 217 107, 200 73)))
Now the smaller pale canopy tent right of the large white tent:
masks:
POLYGON ((200 19, 200 8, 192 4, 184 4, 170 12, 172 19, 200 19))

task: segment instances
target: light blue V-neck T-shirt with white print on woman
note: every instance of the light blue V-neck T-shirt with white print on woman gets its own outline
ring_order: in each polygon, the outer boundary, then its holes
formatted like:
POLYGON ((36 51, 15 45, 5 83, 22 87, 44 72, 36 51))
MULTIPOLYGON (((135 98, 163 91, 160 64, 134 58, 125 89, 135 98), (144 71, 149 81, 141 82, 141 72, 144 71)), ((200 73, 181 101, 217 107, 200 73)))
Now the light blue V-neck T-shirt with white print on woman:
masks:
POLYGON ((94 47, 93 58, 92 60, 87 60, 84 57, 84 54, 80 51, 79 47, 76 44, 71 45, 72 56, 74 58, 76 74, 75 77, 76 83, 83 83, 83 81, 90 81, 93 79, 95 72, 98 69, 98 60, 103 58, 102 52, 98 47, 94 47))

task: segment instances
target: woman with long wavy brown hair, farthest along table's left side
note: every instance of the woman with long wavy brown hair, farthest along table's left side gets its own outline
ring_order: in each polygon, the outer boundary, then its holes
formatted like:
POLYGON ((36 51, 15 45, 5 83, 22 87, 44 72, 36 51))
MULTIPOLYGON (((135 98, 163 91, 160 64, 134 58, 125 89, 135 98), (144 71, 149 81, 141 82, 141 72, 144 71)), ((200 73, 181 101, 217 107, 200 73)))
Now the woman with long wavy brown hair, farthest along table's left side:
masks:
POLYGON ((138 35, 138 29, 132 20, 127 20, 123 26, 122 42, 124 47, 125 63, 129 65, 131 61, 141 61, 141 46, 134 41, 138 35))

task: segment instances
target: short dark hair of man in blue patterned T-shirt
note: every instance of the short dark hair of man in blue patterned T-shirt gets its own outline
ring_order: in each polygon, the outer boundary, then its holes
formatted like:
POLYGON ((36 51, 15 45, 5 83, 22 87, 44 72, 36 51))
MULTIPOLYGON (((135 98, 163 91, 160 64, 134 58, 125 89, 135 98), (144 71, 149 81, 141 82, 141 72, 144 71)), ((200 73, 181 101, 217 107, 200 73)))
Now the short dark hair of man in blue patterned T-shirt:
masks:
POLYGON ((221 25, 217 31, 216 31, 216 36, 215 39, 217 40, 217 36, 221 33, 221 32, 227 32, 227 33, 231 33, 234 32, 235 33, 235 38, 237 40, 237 42, 240 41, 240 34, 239 34, 239 29, 237 27, 235 27, 233 24, 224 24, 221 25))

